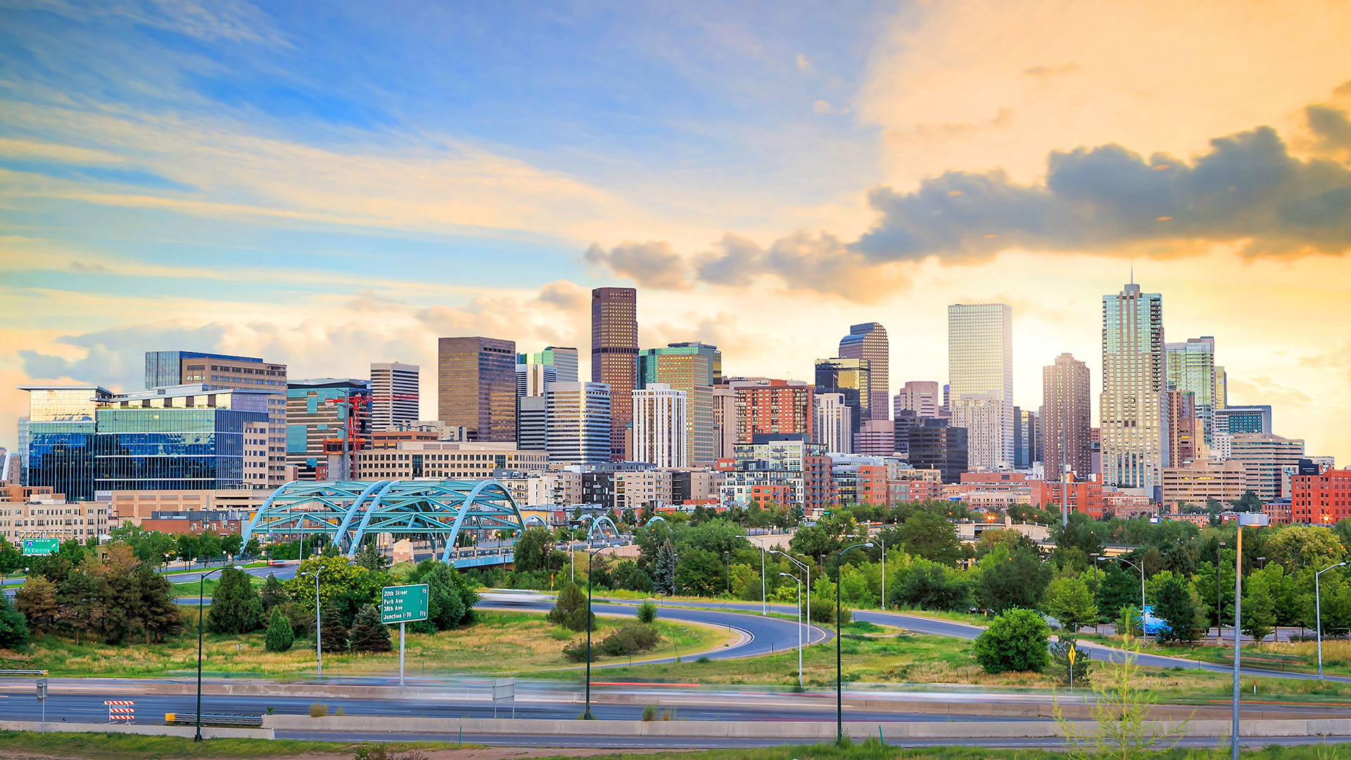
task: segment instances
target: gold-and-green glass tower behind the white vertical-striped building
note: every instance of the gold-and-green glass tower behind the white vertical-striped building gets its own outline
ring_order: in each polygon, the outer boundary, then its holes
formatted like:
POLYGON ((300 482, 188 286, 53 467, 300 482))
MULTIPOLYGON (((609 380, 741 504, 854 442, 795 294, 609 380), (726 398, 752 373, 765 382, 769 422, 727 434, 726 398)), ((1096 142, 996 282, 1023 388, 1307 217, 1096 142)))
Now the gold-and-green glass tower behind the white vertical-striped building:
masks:
POLYGON ((638 387, 647 388, 654 383, 685 391, 688 414, 685 417, 686 467, 708 467, 713 456, 713 385, 715 362, 721 364, 717 346, 705 343, 680 343, 665 349, 643 349, 638 352, 638 387))

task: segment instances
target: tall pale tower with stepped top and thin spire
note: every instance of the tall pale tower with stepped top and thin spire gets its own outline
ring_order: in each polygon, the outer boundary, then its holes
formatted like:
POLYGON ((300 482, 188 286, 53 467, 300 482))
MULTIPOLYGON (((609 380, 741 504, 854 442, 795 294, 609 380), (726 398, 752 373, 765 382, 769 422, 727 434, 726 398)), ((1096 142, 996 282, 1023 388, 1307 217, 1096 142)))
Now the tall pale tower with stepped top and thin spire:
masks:
POLYGON ((1163 296, 1131 283, 1102 296, 1102 481, 1158 491, 1163 431, 1163 296))

